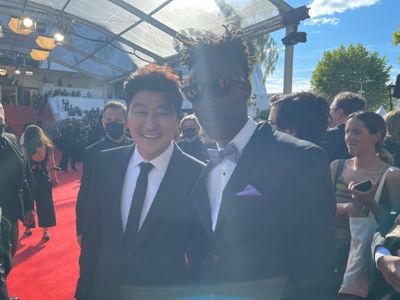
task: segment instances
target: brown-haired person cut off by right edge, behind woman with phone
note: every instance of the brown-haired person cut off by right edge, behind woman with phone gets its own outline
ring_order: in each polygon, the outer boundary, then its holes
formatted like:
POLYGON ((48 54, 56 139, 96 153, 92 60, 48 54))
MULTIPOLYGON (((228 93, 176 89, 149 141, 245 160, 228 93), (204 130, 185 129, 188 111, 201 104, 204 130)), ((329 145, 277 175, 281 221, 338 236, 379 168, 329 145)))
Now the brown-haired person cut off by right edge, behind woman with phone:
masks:
POLYGON ((393 156, 393 165, 400 168, 400 109, 385 116, 386 137, 383 146, 393 156))

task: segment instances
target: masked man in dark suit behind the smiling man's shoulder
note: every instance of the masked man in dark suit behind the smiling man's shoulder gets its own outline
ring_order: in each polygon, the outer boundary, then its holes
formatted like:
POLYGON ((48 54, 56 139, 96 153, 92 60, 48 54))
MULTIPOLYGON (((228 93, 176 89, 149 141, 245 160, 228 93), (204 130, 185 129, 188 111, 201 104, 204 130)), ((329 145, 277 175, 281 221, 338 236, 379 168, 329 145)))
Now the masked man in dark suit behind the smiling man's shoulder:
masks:
POLYGON ((81 243, 87 207, 87 188, 97 153, 102 150, 130 145, 133 140, 126 136, 126 107, 119 102, 108 103, 103 110, 102 124, 106 136, 85 149, 81 186, 76 201, 76 234, 81 243))

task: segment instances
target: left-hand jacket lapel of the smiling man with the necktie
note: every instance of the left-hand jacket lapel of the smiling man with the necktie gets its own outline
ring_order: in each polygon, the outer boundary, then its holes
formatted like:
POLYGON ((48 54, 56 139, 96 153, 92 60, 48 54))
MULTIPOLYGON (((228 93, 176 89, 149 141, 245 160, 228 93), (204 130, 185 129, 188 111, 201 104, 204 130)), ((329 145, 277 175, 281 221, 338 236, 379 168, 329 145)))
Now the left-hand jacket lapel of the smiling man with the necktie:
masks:
POLYGON ((124 231, 122 228, 122 217, 121 217, 121 197, 122 197, 122 188, 124 185, 124 179, 126 170, 128 168, 129 160, 132 156, 132 153, 135 149, 135 146, 132 145, 130 147, 126 147, 124 152, 119 157, 115 158, 114 166, 117 170, 116 172, 111 172, 111 170, 107 170, 110 172, 112 176, 110 180, 112 181, 111 189, 109 191, 109 197, 111 199, 111 215, 110 221, 113 222, 113 226, 115 232, 123 239, 124 231))

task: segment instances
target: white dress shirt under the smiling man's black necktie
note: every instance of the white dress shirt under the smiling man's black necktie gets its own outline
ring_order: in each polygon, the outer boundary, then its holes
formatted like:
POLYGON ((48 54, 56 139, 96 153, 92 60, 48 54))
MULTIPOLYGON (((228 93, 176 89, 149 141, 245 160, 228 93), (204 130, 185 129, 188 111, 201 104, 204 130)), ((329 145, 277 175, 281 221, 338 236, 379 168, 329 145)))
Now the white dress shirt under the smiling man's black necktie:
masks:
MULTIPOLYGON (((163 180, 165 172, 167 171, 173 152, 174 145, 171 142, 171 145, 162 154, 149 161, 154 167, 149 173, 146 197, 144 199, 142 213, 139 220, 139 229, 146 219, 147 213, 149 212, 150 207, 154 201, 161 181, 163 180)), ((124 229, 124 231, 128 222, 129 211, 132 204, 132 197, 133 193, 135 192, 137 179, 139 177, 141 162, 147 162, 147 160, 145 160, 140 155, 137 147, 135 147, 133 155, 129 160, 128 168, 126 169, 124 185, 122 187, 121 219, 122 228, 124 229)))

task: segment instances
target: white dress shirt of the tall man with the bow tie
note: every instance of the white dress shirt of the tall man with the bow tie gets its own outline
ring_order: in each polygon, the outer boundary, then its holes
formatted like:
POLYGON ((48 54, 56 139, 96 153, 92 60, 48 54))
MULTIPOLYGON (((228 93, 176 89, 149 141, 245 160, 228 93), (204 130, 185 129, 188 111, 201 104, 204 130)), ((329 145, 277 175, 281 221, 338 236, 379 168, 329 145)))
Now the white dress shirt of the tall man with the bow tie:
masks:
MULTIPOLYGON (((243 152, 244 147, 249 142, 251 136, 255 132, 257 124, 252 120, 248 119, 243 128, 233 138, 230 144, 233 144, 236 150, 239 152, 239 157, 243 152)), ((218 146, 219 148, 219 146, 218 146)), ((221 207, 222 193, 225 189, 226 184, 232 176, 233 171, 236 168, 236 163, 230 159, 224 158, 221 163, 214 166, 206 178, 206 186, 208 198, 210 199, 211 207, 211 221, 212 230, 215 230, 215 226, 218 220, 219 209, 221 207)))

